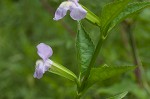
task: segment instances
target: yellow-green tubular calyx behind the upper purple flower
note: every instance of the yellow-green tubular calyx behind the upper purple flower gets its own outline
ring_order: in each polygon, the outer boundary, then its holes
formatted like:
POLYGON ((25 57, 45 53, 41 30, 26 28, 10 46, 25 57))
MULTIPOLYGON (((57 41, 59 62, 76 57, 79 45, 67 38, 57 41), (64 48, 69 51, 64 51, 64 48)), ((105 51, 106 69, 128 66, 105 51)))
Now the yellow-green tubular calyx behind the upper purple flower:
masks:
POLYGON ((87 11, 87 15, 86 15, 86 19, 91 22, 94 25, 100 26, 100 19, 98 16, 96 16, 93 12, 91 12, 88 8, 86 8, 85 6, 81 5, 86 11, 87 11))

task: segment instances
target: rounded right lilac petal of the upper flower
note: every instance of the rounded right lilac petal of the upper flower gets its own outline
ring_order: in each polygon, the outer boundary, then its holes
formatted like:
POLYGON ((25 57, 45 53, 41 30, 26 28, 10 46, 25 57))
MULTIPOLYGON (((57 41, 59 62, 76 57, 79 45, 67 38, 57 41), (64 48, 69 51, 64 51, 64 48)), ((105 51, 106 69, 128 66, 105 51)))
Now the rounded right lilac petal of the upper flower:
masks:
POLYGON ((72 6, 70 9, 70 16, 74 20, 81 20, 86 17, 87 11, 83 9, 80 5, 72 6))

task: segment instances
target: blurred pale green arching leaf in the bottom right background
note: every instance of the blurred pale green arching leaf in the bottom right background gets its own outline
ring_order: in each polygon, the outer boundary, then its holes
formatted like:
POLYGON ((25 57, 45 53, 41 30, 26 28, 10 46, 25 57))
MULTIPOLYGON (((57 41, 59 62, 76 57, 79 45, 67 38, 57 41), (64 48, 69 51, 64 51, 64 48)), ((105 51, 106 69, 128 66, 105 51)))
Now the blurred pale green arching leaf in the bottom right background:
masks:
POLYGON ((131 78, 123 78, 118 83, 113 83, 111 86, 101 87, 98 89, 97 94, 107 94, 107 95, 115 95, 116 93, 128 91, 131 94, 135 95, 137 99, 149 99, 149 95, 146 95, 146 90, 141 90, 139 85, 137 85, 134 80, 131 78), (128 86, 128 87, 125 87, 128 86))

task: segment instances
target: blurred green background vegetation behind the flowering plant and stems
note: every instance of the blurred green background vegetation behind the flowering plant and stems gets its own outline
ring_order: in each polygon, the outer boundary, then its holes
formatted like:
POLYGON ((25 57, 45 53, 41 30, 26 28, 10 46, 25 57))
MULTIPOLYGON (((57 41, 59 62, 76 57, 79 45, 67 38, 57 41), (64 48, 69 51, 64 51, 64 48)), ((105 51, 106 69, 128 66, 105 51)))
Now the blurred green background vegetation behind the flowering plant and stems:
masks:
MULTIPOLYGON (((46 43, 53 48, 52 60, 78 74, 75 36, 76 21, 69 15, 54 21, 54 12, 63 0, 0 0, 0 99, 73 99, 76 86, 71 81, 47 72, 40 80, 33 78, 39 59, 36 45, 46 43)), ((100 14, 101 7, 112 0, 80 0, 100 14)), ((138 54, 150 84, 150 8, 132 16, 133 35, 138 54)), ((83 20, 96 44, 99 29, 83 20)), ((118 25, 108 36, 97 65, 133 65, 127 36, 118 25)), ((125 99, 149 99, 147 92, 136 83, 133 72, 98 83, 83 99, 105 99, 121 91, 129 91, 125 99)))

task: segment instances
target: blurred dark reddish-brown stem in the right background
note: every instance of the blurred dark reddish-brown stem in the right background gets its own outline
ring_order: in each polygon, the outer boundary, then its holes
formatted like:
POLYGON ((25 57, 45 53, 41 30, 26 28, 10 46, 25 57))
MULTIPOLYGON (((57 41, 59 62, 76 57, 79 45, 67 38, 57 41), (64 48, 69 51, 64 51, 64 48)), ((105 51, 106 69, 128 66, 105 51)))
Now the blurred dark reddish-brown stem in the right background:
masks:
POLYGON ((129 43, 131 46, 132 55, 133 55, 133 59, 134 59, 134 64, 138 66, 135 69, 136 79, 138 81, 138 84, 141 87, 144 87, 146 89, 147 93, 150 94, 150 87, 145 78, 144 68, 142 66, 141 60, 140 60, 139 55, 136 50, 137 48, 136 48, 135 39, 134 39, 134 36, 131 31, 131 23, 129 23, 127 21, 125 22, 125 30, 127 30, 127 33, 128 33, 129 43))

